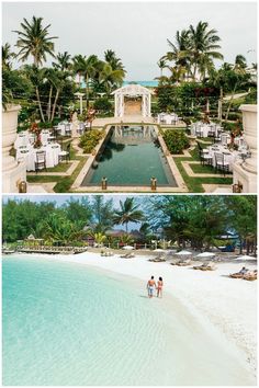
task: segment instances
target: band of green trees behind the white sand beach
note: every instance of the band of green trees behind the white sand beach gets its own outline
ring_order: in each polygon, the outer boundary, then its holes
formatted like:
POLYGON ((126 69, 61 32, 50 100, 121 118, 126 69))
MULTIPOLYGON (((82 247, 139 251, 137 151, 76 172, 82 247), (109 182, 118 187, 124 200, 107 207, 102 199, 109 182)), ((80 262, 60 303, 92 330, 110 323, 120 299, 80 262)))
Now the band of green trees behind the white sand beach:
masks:
MULTIPOLYGON (((3 242, 15 244, 30 235, 45 244, 98 246, 116 248, 137 243, 154 247, 196 249, 221 247, 221 236, 237 236, 240 251, 256 252, 257 197, 159 195, 125 197, 115 204, 102 195, 70 198, 61 206, 55 201, 34 203, 11 199, 3 203, 3 242), (130 230, 136 226, 137 231, 130 230), (111 230, 124 230, 120 235, 111 230)), ((233 243, 232 241, 228 241, 233 243)))

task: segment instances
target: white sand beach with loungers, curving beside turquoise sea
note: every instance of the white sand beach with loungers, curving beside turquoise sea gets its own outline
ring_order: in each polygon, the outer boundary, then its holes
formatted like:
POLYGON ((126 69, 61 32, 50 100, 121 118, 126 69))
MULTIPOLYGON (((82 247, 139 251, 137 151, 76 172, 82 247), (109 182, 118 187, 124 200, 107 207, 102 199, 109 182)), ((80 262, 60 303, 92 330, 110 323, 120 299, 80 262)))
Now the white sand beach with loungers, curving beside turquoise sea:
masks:
MULTIPOLYGON (((29 254, 22 253, 19 256, 30 258, 29 254)), ((207 332, 215 330, 215 334, 221 333, 229 343, 232 352, 236 347, 239 353, 237 356, 244 367, 249 369, 254 378, 257 377, 256 282, 232 279, 227 276, 232 272, 239 271, 243 263, 217 263, 216 271, 204 273, 194 271, 190 266, 171 266, 168 262, 151 263, 147 261, 148 256, 142 255, 127 260, 119 255, 105 258, 93 252, 77 255, 36 254, 36 256, 82 264, 110 272, 119 278, 126 276, 138 279, 144 282, 143 289, 150 275, 156 278, 162 276, 164 297, 166 298, 167 295, 173 297, 207 332)), ((248 264, 248 266, 255 269, 256 264, 248 264)))

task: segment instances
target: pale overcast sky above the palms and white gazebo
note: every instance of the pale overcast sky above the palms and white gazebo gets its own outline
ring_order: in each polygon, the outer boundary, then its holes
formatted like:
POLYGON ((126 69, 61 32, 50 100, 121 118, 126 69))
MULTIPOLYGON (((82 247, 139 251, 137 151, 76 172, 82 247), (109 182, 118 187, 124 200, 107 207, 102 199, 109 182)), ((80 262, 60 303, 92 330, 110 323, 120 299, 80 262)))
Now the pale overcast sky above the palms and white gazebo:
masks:
MULTIPOLYGON (((33 15, 50 24, 55 52, 77 55, 115 50, 127 70, 127 80, 146 81, 159 76, 157 61, 168 52, 167 38, 173 41, 178 30, 206 21, 222 38, 225 61, 237 54, 248 64, 257 61, 256 1, 120 1, 120 2, 3 2, 2 43, 14 46, 23 18, 33 15)), ((50 65, 52 59, 47 65, 50 65)))

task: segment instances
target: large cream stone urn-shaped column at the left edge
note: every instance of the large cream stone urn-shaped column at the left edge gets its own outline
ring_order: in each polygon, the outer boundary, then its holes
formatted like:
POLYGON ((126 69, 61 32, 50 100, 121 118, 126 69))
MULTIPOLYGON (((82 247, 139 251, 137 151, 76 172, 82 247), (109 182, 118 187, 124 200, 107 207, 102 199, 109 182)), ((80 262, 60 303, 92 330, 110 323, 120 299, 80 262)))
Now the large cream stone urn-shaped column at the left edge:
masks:
POLYGON ((2 192, 18 193, 19 183, 26 181, 25 162, 18 163, 10 155, 16 139, 20 105, 10 105, 2 112, 2 192))

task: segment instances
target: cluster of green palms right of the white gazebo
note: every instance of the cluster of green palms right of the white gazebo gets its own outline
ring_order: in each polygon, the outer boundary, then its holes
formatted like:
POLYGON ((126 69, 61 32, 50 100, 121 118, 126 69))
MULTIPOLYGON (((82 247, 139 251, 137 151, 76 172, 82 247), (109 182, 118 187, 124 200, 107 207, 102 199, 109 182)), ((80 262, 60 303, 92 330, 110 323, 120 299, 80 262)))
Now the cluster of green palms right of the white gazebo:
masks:
POLYGON ((252 72, 255 78, 257 64, 252 64, 249 69, 245 56, 238 54, 234 64, 223 62, 216 68, 215 60, 224 60, 221 37, 207 22, 200 21, 196 26, 191 24, 188 28, 177 31, 174 41, 167 42, 169 50, 157 62, 160 68, 160 77, 157 78, 160 109, 174 109, 187 114, 195 113, 196 107, 209 110, 211 103, 215 111, 218 109, 221 119, 223 98, 229 94, 224 113, 227 121, 230 118, 235 93, 248 92, 252 88, 247 103, 256 103, 256 80, 252 79, 252 72), (167 69, 167 76, 164 75, 164 69, 167 69), (187 82, 190 87, 184 88, 187 82), (179 87, 182 90, 177 90, 179 87), (215 104, 217 101, 218 107, 215 104))

